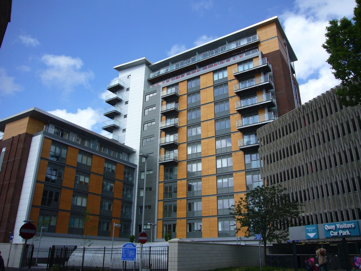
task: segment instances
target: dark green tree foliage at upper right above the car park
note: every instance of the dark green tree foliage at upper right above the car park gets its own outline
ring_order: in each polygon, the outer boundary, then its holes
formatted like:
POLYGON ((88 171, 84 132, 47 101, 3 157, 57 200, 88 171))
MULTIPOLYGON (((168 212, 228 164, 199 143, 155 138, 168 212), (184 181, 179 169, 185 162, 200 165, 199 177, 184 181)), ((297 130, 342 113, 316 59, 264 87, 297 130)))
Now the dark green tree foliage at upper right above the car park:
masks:
POLYGON ((351 20, 343 17, 329 21, 326 27, 326 42, 322 47, 330 54, 327 59, 342 89, 336 94, 345 106, 361 105, 361 0, 356 0, 351 20))

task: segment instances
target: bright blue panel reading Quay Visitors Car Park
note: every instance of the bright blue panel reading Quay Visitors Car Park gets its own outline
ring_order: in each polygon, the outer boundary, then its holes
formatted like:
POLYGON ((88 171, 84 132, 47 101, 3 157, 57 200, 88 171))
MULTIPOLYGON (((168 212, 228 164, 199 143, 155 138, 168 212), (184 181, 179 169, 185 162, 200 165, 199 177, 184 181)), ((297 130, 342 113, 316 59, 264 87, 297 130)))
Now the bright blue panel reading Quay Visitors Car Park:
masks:
POLYGON ((326 238, 360 236, 357 220, 323 224, 326 238))

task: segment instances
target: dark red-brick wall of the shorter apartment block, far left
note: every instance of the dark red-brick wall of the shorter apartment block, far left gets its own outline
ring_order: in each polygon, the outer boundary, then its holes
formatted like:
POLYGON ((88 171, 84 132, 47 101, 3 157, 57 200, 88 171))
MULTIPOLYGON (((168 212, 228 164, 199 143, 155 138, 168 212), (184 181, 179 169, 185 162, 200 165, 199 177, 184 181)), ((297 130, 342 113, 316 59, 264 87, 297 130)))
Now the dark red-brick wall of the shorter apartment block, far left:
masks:
POLYGON ((14 229, 31 139, 23 133, 0 141, 0 150, 6 147, 0 171, 0 243, 9 242, 14 229))

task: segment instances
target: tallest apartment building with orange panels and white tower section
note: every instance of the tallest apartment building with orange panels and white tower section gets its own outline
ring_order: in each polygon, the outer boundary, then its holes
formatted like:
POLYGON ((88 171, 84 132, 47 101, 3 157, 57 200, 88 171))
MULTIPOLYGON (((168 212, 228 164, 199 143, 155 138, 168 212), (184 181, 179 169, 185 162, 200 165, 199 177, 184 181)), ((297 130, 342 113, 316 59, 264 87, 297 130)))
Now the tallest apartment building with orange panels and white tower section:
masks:
POLYGON ((256 130, 300 105, 296 60, 273 17, 156 63, 114 67, 103 129, 150 155, 138 161, 135 236, 144 212, 158 241, 234 240, 228 208, 263 184, 256 130))

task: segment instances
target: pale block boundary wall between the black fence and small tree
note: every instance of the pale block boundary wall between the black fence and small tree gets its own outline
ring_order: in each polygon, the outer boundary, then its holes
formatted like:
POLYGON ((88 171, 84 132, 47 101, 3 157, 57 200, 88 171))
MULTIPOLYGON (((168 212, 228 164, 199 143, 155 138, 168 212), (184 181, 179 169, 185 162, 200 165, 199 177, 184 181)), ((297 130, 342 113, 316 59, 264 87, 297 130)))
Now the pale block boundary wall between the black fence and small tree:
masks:
POLYGON ((259 265, 258 246, 169 240, 168 270, 201 271, 259 265))

